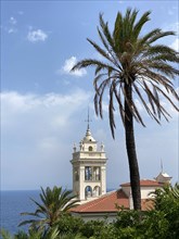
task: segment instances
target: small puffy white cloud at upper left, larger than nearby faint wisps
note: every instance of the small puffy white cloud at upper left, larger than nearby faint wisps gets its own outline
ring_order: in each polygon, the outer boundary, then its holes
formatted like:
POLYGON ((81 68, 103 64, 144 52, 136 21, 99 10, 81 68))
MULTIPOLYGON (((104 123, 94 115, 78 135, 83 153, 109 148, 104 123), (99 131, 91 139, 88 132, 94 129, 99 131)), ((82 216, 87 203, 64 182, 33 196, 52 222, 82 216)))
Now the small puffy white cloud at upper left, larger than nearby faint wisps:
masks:
POLYGON ((37 29, 37 30, 29 29, 27 34, 27 39, 30 42, 46 41, 47 38, 48 38, 48 34, 41 29, 37 29))

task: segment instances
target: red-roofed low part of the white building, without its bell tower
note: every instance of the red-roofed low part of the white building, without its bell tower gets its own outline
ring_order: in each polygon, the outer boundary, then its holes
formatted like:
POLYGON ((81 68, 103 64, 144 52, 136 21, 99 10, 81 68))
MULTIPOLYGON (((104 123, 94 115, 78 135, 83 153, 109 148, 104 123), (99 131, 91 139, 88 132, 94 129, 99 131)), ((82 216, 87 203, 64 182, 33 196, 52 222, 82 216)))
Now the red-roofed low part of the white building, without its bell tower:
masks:
MULTIPOLYGON (((156 180, 143 179, 140 180, 141 186, 141 209, 142 211, 150 210, 153 206, 151 192, 157 188, 163 188, 164 183, 156 180)), ((126 210, 132 210, 133 203, 131 198, 130 184, 123 184, 120 188, 115 191, 107 192, 93 201, 86 202, 71 210, 72 214, 81 217, 85 222, 99 219, 106 219, 108 223, 115 221, 119 206, 126 210)))

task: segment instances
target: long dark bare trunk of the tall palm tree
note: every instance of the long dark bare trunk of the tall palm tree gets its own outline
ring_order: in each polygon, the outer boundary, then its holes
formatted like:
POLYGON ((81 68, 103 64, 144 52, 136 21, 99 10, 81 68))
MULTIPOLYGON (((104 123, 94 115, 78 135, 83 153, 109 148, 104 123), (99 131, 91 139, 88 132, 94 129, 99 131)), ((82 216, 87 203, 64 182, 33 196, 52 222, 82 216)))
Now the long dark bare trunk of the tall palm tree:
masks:
MULTIPOLYGON (((132 89, 130 84, 125 84, 126 99, 131 105, 132 89)), ((125 99, 125 134, 126 134, 126 148, 129 162, 130 172, 130 187, 133 200, 133 209, 141 210, 141 192, 140 192, 140 175, 136 153, 135 131, 133 131, 133 116, 130 108, 125 99)))

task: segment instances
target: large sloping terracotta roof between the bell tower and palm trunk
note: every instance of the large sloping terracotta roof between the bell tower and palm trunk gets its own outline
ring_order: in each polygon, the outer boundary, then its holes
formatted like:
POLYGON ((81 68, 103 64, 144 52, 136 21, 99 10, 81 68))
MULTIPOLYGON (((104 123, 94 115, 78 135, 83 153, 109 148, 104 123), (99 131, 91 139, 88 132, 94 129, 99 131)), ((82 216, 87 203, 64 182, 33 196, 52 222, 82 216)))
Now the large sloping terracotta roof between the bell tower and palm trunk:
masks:
POLYGON ((129 209, 129 199, 122 189, 108 192, 99 199, 78 205, 71 211, 76 213, 117 212, 116 204, 129 209))

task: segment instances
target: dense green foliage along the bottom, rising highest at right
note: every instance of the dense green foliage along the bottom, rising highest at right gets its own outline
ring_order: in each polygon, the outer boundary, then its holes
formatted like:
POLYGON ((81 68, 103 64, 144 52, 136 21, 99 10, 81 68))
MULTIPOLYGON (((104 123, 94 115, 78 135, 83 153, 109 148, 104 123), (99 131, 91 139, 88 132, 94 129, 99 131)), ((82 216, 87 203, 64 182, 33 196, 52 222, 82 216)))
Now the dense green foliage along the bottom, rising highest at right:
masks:
POLYGON ((91 221, 85 223, 62 213, 49 230, 31 223, 28 232, 11 236, 2 230, 3 239, 178 239, 179 235, 179 185, 166 186, 155 192, 154 207, 146 212, 118 212, 114 223, 91 221))

